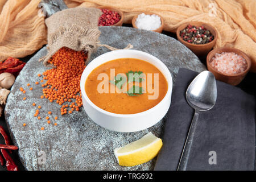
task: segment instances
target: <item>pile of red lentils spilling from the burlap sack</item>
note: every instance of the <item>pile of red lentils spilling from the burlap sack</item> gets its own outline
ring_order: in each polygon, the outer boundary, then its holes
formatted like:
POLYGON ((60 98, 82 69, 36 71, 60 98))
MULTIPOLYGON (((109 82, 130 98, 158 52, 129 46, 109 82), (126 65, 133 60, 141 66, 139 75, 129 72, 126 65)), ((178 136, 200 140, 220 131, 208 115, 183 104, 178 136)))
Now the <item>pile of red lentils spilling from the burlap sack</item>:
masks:
POLYGON ((62 105, 61 115, 67 114, 67 107, 71 108, 69 113, 72 113, 73 110, 79 111, 79 107, 82 106, 80 78, 85 69, 86 59, 87 56, 83 52, 63 47, 48 60, 48 63, 55 65, 56 68, 43 73, 42 81, 46 82, 42 84, 42 98, 62 105), (75 102, 72 102, 72 99, 75 102))

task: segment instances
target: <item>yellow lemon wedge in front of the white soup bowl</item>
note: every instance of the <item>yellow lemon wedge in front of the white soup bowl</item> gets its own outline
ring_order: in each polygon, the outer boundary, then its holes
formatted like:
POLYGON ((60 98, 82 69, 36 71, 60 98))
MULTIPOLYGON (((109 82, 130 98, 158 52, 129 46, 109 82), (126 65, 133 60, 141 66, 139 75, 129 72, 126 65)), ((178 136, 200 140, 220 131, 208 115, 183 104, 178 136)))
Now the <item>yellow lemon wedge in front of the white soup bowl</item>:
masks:
POLYGON ((136 166, 155 158, 162 146, 162 139, 150 132, 135 142, 115 148, 114 154, 120 166, 136 166))

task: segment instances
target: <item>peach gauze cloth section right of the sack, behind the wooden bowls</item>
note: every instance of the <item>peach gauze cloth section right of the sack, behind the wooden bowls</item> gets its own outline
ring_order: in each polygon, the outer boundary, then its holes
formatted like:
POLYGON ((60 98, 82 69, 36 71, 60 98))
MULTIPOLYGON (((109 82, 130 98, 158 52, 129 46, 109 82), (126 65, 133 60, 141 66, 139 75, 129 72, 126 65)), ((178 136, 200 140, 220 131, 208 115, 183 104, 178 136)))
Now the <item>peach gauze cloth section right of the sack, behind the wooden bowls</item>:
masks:
POLYGON ((124 23, 144 11, 164 18, 164 30, 175 32, 184 22, 201 21, 218 31, 218 47, 241 49, 251 58, 251 71, 256 72, 256 1, 251 0, 64 0, 74 7, 113 6, 125 13, 124 23))

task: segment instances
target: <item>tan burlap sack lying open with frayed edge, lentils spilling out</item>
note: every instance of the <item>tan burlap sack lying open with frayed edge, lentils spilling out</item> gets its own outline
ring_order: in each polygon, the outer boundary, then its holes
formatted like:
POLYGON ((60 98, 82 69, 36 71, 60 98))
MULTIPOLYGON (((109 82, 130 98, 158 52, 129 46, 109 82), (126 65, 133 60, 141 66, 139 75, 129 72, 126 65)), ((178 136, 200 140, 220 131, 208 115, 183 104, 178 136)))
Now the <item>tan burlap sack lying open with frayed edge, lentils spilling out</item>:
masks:
POLYGON ((48 27, 48 53, 39 61, 46 67, 54 67, 47 61, 62 47, 88 53, 88 60, 97 49, 99 36, 98 18, 102 12, 95 8, 76 7, 59 11, 46 19, 48 27))

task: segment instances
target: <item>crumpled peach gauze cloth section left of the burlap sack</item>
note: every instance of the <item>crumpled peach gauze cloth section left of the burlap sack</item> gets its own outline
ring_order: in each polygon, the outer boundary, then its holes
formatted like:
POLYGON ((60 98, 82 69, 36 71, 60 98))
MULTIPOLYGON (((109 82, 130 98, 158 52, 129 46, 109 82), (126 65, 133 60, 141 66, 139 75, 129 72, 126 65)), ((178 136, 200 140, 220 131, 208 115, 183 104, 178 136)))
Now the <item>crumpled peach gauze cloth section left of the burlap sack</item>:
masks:
POLYGON ((47 43, 44 17, 38 16, 40 0, 0 0, 0 62, 24 57, 47 43))

